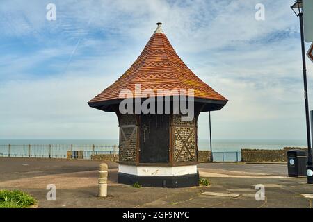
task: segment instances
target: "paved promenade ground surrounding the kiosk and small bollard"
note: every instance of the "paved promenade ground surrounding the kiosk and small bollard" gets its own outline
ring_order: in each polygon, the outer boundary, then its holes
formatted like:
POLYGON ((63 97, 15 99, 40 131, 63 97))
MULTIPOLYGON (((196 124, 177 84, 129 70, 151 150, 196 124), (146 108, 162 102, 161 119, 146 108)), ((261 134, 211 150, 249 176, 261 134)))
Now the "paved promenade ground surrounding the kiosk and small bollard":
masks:
POLYGON ((133 188, 117 183, 109 164, 107 198, 97 197, 99 161, 0 158, 0 189, 22 189, 38 207, 312 207, 313 186, 306 178, 288 178, 285 164, 202 163, 200 176, 209 187, 133 188), (46 199, 56 185, 56 201, 46 199), (265 200, 255 200, 255 185, 264 185, 265 200), (204 192, 209 192, 204 195, 204 192))

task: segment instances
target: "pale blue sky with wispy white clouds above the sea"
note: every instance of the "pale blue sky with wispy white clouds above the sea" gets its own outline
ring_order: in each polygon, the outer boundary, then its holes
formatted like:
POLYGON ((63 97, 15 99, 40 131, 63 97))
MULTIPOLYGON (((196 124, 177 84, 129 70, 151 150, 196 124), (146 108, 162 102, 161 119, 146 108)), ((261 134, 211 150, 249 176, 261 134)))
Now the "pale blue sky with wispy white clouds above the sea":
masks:
MULTIPOLYGON (((0 1, 0 139, 118 138, 115 114, 87 102, 130 67, 157 22, 186 65, 229 100, 211 112, 212 137, 305 139, 293 2, 0 1), (47 20, 49 3, 56 20, 47 20), (264 20, 255 19, 257 3, 264 20)), ((308 59, 307 70, 313 99, 308 59)), ((199 139, 208 123, 200 114, 199 139)))

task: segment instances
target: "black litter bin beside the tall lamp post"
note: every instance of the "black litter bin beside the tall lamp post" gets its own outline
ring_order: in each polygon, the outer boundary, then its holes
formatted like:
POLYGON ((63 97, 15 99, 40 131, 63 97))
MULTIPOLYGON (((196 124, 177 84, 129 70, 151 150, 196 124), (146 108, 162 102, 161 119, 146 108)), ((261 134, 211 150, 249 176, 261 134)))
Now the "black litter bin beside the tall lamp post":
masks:
POLYGON ((307 152, 302 150, 287 151, 288 176, 307 176, 307 152))

